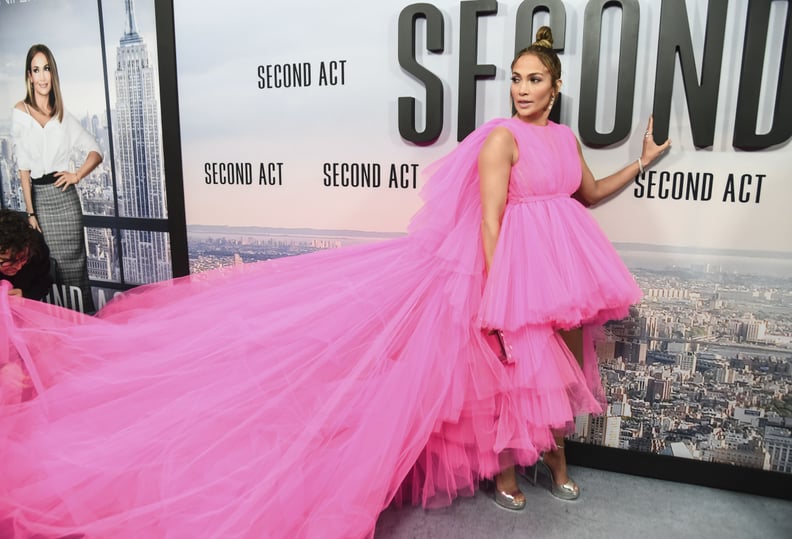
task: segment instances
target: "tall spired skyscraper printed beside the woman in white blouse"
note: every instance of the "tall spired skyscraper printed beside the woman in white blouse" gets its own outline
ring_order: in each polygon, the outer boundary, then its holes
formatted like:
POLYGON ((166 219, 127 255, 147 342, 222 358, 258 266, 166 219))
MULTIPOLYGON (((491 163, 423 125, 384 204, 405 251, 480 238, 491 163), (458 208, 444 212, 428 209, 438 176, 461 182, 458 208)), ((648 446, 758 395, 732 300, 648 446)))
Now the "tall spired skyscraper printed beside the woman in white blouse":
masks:
MULTIPOLYGON (((133 0, 125 2, 125 30, 116 54, 115 161, 119 217, 165 219, 156 72, 138 34, 133 0)), ((141 284, 171 277, 168 235, 124 230, 124 280, 141 284)))

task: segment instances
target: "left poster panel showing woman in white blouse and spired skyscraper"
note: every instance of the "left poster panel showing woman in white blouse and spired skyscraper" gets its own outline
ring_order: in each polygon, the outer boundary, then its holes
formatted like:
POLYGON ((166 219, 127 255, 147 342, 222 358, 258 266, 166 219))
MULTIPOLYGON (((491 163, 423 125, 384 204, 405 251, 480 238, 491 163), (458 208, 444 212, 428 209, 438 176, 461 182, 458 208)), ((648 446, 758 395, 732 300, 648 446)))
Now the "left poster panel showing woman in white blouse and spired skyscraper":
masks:
POLYGON ((172 276, 154 26, 151 1, 0 4, 0 99, 8 104, 0 108, 0 201, 36 214, 31 220, 42 228, 59 269, 51 303, 93 312, 120 291, 172 276), (37 23, 44 19, 59 24, 37 23), (30 113, 25 110, 23 84, 32 81, 25 54, 35 43, 57 58, 41 73, 54 80, 65 120, 52 121, 52 110, 30 104, 30 113), (12 121, 27 118, 33 121, 12 121), (23 132, 22 125, 31 129, 23 132), (57 163, 32 167, 29 152, 21 151, 25 141, 61 126, 57 163), (26 187, 26 178, 39 173, 54 173, 47 176, 54 181, 26 187), (44 191, 52 200, 69 196, 68 208, 43 206, 44 191), (50 225, 53 215, 60 221, 50 225), (71 224, 69 235, 61 221, 71 224))

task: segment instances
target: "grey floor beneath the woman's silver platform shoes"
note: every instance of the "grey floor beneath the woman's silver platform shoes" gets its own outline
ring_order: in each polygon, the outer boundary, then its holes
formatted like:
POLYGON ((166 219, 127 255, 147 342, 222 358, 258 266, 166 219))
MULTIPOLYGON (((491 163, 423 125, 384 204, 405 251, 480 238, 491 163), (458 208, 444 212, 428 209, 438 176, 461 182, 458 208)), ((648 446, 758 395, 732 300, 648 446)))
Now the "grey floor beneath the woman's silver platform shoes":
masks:
POLYGON ((761 538, 792 539, 792 501, 570 467, 575 502, 553 498, 547 481, 521 481, 523 511, 496 506, 485 492, 443 509, 388 509, 376 539, 420 538, 761 538))

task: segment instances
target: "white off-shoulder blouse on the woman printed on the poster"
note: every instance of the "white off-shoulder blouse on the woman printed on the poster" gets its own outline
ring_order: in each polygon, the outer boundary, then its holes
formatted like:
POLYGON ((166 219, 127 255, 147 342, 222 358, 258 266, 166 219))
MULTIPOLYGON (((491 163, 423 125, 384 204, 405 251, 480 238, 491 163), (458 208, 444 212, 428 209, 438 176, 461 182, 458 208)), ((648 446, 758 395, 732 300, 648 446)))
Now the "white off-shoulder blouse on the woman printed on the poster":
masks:
POLYGON ((96 152, 100 156, 99 144, 80 125, 77 118, 63 112, 63 121, 57 117, 41 127, 33 117, 14 108, 11 115, 11 137, 19 170, 29 170, 31 178, 40 178, 50 172, 69 170, 72 150, 75 148, 96 152))

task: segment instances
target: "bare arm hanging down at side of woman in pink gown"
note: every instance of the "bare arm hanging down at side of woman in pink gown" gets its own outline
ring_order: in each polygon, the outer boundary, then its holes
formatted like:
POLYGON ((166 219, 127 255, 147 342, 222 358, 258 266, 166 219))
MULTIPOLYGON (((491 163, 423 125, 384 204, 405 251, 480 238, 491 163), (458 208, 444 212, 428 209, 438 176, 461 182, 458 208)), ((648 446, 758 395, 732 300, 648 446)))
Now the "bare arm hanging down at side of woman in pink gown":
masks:
POLYGON ((484 260, 489 272, 500 235, 509 176, 516 161, 517 146, 505 127, 496 127, 484 141, 479 152, 478 172, 481 191, 481 241, 484 260))

